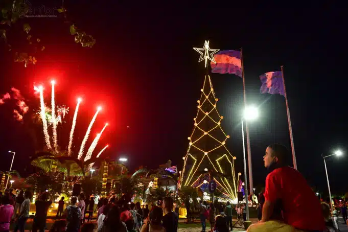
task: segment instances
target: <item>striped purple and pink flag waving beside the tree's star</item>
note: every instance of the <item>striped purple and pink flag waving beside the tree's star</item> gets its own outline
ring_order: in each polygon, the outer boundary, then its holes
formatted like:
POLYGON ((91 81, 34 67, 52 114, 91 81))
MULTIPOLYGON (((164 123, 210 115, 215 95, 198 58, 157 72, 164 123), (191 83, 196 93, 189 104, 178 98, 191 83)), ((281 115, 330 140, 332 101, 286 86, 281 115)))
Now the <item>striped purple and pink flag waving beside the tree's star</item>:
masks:
POLYGON ((224 50, 214 55, 216 63, 210 63, 212 73, 236 74, 242 77, 241 52, 235 50, 224 50))

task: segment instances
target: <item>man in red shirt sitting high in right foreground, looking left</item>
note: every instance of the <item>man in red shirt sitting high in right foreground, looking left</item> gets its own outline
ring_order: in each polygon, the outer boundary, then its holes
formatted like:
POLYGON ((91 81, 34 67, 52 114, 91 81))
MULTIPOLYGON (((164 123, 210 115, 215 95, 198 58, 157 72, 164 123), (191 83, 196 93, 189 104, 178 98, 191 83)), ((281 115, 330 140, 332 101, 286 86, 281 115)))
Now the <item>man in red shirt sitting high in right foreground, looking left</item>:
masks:
POLYGON ((262 220, 250 226, 248 231, 325 229, 318 198, 306 179, 297 170, 286 166, 288 157, 289 152, 283 145, 273 144, 267 147, 263 158, 265 168, 270 173, 266 177, 262 220), (281 216, 284 222, 280 221, 281 216))

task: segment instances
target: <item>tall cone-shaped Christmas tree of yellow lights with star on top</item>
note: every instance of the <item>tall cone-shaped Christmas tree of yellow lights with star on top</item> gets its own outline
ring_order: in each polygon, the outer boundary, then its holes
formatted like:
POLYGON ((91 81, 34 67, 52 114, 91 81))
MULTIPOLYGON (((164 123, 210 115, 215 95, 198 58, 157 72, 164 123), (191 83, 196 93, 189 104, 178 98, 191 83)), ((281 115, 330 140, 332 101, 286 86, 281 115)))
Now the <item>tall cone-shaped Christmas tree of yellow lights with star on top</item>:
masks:
MULTIPOLYGON (((204 58, 201 55, 200 61, 214 60, 209 57, 209 55, 213 56, 208 52, 214 50, 209 49, 208 42, 205 42, 203 49, 197 50, 204 50, 204 58)), ((217 110, 218 99, 208 75, 204 78, 201 92, 200 100, 197 101, 198 110, 196 118, 194 118, 194 129, 191 136, 188 137, 189 149, 183 157, 184 165, 179 186, 180 188, 184 186, 204 187, 211 179, 214 179, 217 183, 217 190, 234 200, 237 198, 237 183, 240 174, 236 177, 234 168, 236 157, 226 148, 226 140, 229 135, 221 127, 223 117, 217 110)))

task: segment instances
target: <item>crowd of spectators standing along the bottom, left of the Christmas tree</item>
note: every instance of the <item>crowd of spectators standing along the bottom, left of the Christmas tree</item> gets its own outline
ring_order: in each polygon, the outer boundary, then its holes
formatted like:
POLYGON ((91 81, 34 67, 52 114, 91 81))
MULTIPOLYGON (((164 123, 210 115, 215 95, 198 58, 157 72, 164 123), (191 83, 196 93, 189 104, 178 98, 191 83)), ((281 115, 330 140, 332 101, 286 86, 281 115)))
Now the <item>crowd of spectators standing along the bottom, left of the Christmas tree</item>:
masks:
MULTIPOLYGON (((20 192, 15 196, 7 190, 0 197, 0 232, 8 232, 10 223, 14 222, 14 231, 24 232, 29 218, 31 192, 20 192), (16 214, 15 208, 19 208, 16 214)), ((52 204, 48 193, 43 192, 35 201, 36 212, 33 218, 32 231, 43 232, 46 227, 47 213, 52 204)), ((165 197, 157 205, 141 207, 139 202, 129 202, 116 197, 101 198, 96 207, 97 224, 85 223, 85 214, 94 212, 94 199, 85 199, 84 193, 77 198, 72 197, 64 209, 64 197, 58 202, 57 218, 52 225, 52 232, 176 232, 178 215, 173 212, 174 200, 165 197)))

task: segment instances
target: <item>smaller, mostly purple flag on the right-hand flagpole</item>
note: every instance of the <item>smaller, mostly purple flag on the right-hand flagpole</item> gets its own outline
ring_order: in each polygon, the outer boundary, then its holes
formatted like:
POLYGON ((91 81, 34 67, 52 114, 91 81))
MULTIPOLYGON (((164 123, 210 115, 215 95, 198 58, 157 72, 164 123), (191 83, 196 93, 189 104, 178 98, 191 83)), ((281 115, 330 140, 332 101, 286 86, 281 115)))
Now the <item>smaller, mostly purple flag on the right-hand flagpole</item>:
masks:
POLYGON ((260 76, 261 94, 280 94, 285 96, 284 82, 281 71, 268 72, 260 76))

